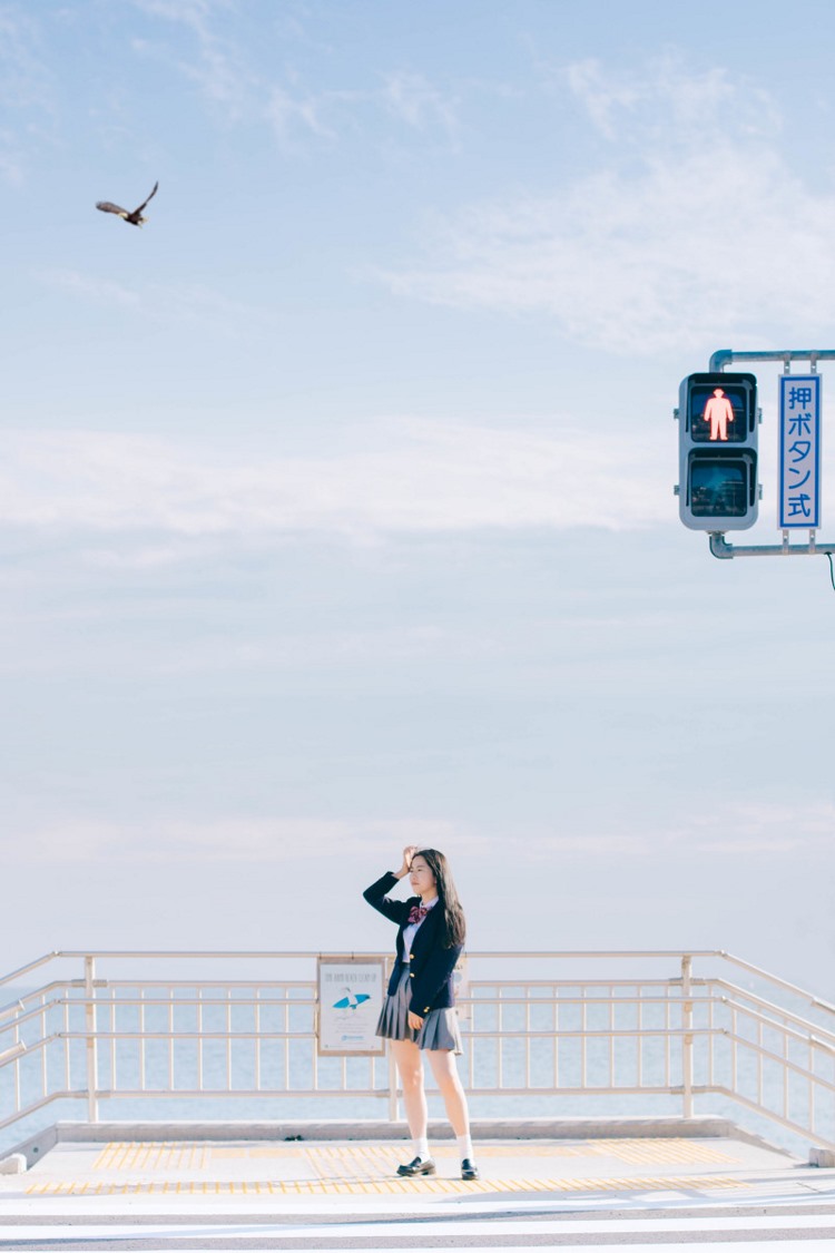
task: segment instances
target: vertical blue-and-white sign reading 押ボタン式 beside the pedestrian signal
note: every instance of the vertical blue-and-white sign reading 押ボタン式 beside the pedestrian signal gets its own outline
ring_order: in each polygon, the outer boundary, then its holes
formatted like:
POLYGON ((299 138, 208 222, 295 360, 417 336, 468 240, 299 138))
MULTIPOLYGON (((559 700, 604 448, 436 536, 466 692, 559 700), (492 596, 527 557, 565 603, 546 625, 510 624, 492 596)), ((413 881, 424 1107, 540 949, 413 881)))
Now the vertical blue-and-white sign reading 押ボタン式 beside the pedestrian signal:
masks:
POLYGON ((780 376, 781 530, 820 526, 820 375, 780 376))

